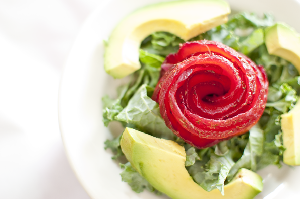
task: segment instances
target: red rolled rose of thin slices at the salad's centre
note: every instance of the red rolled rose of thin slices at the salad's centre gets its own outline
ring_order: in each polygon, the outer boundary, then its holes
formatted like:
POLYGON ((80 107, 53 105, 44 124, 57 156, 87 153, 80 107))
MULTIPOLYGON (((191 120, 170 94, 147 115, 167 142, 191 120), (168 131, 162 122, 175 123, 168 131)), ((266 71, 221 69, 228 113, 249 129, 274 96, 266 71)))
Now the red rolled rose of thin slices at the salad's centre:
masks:
POLYGON ((197 148, 244 134, 267 102, 263 67, 219 42, 182 44, 162 73, 152 99, 174 134, 197 148))

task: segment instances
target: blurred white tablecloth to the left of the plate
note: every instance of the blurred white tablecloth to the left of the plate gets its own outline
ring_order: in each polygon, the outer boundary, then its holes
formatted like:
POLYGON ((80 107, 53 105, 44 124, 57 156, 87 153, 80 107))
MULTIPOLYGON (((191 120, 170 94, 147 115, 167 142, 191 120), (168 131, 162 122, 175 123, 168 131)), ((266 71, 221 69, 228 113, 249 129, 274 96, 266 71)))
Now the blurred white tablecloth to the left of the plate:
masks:
POLYGON ((67 161, 64 61, 101 0, 0 0, 0 198, 88 199, 67 161))

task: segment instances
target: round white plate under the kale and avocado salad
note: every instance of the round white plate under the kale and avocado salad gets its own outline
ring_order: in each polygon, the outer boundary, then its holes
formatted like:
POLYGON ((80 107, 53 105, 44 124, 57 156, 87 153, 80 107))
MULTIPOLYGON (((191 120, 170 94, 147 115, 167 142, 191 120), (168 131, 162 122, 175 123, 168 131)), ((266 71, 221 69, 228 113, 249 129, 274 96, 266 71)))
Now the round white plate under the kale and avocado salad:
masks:
MULTIPOLYGON (((80 183, 92 199, 159 198, 147 191, 137 194, 121 181, 122 171, 104 141, 112 138, 102 123, 101 97, 115 95, 115 81, 103 69, 103 40, 124 16, 136 8, 160 0, 111 0, 102 4, 87 19, 65 65, 59 91, 59 123, 67 156, 80 183)), ((229 1, 232 10, 272 11, 300 32, 300 2, 292 0, 229 1)), ((257 198, 299 198, 300 168, 270 166, 259 172, 264 190, 257 198)), ((166 198, 166 196, 160 196, 166 198)))

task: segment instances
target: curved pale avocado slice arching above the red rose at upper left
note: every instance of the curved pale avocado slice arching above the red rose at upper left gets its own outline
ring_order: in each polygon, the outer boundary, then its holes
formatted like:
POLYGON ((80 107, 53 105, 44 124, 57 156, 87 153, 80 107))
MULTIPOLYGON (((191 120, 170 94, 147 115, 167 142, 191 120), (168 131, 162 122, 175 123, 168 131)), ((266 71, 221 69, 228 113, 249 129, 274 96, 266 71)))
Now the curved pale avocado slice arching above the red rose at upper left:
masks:
POLYGON ((223 0, 180 0, 140 8, 112 31, 105 49, 105 71, 123 78, 138 70, 141 42, 154 32, 170 32, 188 40, 225 23, 230 12, 223 0))

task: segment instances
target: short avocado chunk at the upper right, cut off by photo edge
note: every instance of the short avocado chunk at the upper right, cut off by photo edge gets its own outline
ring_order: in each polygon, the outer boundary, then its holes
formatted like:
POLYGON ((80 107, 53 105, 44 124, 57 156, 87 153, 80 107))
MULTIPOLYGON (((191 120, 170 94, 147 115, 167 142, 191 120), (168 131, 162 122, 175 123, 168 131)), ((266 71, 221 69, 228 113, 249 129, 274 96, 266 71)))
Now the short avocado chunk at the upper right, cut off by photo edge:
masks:
POLYGON ((300 71, 300 35, 285 23, 276 23, 265 30, 269 54, 284 58, 300 71))

